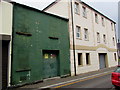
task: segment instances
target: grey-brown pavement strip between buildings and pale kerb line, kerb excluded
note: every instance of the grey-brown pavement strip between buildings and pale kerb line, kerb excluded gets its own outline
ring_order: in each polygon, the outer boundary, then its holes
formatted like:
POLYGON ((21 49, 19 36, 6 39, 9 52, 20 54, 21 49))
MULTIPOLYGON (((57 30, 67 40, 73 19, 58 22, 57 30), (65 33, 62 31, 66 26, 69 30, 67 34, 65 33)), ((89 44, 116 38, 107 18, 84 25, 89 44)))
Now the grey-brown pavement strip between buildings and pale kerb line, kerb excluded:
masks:
POLYGON ((74 80, 74 79, 78 79, 78 78, 84 78, 84 77, 88 77, 88 76, 92 76, 92 75, 95 75, 95 74, 100 74, 100 73, 103 73, 103 72, 108 72, 108 71, 114 71, 116 67, 111 67, 111 68, 105 68, 105 69, 101 69, 101 70, 98 70, 98 71, 93 71, 93 72, 88 72, 88 73, 84 73, 84 74, 79 74, 77 76, 69 76, 69 77, 65 77, 65 78, 59 78, 59 77, 56 77, 56 78, 52 78, 52 79, 46 79, 44 80, 43 82, 40 82, 40 83, 36 83, 36 84, 31 84, 31 85, 25 85, 25 86, 22 86, 22 87, 18 87, 19 89, 40 89, 40 87, 45 87, 45 86, 49 86, 49 85, 52 85, 52 84, 57 84, 57 83, 62 83, 62 82, 65 82, 65 81, 70 81, 70 80, 74 80))

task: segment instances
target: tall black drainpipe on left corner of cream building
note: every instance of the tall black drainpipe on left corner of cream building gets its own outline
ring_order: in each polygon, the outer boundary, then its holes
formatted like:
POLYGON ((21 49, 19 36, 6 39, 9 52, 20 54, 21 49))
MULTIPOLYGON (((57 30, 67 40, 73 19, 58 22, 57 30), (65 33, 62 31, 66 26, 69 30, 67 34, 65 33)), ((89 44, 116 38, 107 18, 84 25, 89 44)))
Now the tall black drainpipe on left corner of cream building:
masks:
POLYGON ((70 0, 71 3, 71 18, 72 18, 72 35, 73 35, 73 55, 74 55, 74 72, 76 76, 76 60, 75 60, 75 38, 74 38, 74 21, 73 21, 73 6, 72 6, 72 0, 70 0))

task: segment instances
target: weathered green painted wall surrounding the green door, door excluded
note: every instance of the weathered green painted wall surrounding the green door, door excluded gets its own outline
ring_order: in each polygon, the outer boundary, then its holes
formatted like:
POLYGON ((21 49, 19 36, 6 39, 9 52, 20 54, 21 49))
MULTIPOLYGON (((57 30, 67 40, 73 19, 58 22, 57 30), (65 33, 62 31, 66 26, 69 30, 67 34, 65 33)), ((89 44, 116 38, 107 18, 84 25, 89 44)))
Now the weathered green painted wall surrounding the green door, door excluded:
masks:
POLYGON ((70 74, 69 49, 67 20, 14 4, 12 85, 43 80, 42 50, 59 50, 59 76, 70 74))

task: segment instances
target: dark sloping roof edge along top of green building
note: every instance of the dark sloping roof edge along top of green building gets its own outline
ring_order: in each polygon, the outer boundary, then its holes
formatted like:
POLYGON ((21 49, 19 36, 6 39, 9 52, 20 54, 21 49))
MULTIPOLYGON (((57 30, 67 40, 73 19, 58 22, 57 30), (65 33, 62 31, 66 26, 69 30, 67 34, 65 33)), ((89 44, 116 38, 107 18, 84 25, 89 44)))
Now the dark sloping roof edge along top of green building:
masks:
MULTIPOLYGON (((7 0, 3 0, 3 1, 7 1, 7 0)), ((63 20, 69 21, 68 18, 64 18, 64 17, 60 17, 60 16, 58 16, 58 15, 50 14, 50 13, 41 11, 41 10, 39 10, 39 9, 36 9, 36 8, 30 7, 30 6, 21 4, 21 3, 18 3, 18 2, 12 1, 12 0, 9 0, 9 1, 7 1, 7 2, 8 2, 8 3, 11 3, 11 4, 13 4, 13 5, 14 5, 14 4, 18 4, 18 5, 21 5, 21 6, 23 6, 23 7, 26 7, 26 8, 30 8, 30 9, 32 9, 32 10, 35 10, 35 11, 39 11, 39 12, 44 13, 44 14, 46 14, 46 15, 50 15, 50 16, 53 16, 53 17, 56 17, 56 18, 59 18, 59 19, 63 19, 63 20)))

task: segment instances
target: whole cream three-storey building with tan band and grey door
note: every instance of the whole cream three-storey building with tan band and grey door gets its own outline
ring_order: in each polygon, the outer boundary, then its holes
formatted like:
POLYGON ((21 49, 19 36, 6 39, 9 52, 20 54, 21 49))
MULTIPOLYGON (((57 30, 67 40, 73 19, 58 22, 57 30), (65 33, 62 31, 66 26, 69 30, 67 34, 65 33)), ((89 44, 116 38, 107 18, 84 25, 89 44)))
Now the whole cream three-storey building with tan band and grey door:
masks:
POLYGON ((43 11, 69 18, 71 75, 118 64, 113 20, 80 0, 58 0, 43 11))

